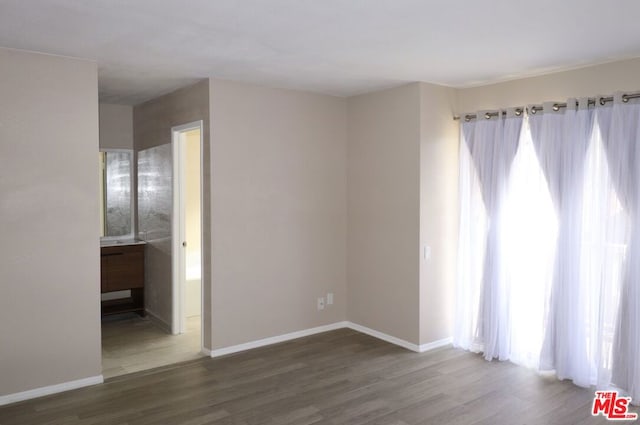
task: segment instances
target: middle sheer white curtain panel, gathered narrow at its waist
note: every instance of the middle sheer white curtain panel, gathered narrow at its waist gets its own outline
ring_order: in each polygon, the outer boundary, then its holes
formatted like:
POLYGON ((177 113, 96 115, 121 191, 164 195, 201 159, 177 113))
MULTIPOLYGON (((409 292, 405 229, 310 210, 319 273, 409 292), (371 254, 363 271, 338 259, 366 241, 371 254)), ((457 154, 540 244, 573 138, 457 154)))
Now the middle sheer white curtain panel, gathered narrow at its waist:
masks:
POLYGON ((553 283, 540 368, 556 370, 560 379, 589 385, 587 350, 589 294, 581 278, 582 211, 585 154, 593 125, 588 99, 569 99, 567 107, 529 117, 531 136, 549 185, 558 218, 553 283))

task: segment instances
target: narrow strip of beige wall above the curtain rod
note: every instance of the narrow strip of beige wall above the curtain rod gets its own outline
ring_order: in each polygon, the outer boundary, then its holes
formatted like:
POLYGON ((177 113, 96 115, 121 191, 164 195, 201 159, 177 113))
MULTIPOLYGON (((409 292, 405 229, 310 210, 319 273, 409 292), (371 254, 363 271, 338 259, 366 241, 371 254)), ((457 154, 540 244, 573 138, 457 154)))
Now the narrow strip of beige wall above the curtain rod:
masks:
POLYGON ((640 58, 458 90, 457 113, 640 90, 640 58))

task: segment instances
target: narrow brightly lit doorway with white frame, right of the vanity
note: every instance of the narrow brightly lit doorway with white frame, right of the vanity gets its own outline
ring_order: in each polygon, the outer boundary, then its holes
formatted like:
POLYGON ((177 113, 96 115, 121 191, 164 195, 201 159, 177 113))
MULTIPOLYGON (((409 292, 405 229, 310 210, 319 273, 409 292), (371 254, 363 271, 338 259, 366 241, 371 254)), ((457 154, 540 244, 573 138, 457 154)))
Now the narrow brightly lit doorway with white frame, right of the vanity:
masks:
POLYGON ((202 349, 202 121, 172 128, 174 335, 198 333, 202 349))

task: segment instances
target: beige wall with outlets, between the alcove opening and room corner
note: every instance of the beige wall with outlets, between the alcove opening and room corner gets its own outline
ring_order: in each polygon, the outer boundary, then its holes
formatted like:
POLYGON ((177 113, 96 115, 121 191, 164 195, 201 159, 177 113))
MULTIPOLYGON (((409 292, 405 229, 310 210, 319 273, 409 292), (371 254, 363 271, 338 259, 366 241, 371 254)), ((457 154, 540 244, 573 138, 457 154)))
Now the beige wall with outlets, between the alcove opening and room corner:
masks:
POLYGON ((213 347, 344 320, 345 99, 210 89, 213 347))

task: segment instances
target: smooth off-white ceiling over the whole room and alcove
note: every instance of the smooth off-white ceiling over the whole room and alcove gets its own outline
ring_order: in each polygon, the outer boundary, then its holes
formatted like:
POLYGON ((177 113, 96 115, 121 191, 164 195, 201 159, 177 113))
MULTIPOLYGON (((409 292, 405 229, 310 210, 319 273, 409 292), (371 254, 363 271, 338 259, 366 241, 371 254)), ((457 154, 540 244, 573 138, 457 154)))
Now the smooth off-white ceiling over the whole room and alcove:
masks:
POLYGON ((205 77, 349 96, 640 56, 637 0, 0 0, 0 46, 96 60, 103 102, 205 77))

